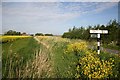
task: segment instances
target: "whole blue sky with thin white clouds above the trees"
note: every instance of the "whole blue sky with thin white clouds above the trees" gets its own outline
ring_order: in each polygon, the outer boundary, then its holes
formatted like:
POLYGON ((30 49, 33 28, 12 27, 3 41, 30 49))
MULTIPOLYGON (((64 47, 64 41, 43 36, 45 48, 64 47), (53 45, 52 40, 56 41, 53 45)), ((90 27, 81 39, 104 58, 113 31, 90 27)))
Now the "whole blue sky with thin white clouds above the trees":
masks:
POLYGON ((2 31, 63 34, 73 26, 107 24, 117 2, 3 2, 2 31))

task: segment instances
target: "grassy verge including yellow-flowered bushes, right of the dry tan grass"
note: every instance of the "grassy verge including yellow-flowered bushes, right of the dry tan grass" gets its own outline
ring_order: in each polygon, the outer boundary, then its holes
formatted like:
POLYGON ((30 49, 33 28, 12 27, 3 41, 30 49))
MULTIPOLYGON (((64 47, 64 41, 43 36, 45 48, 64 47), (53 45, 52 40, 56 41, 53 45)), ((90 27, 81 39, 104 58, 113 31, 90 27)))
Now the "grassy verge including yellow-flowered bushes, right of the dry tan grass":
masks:
POLYGON ((59 37, 37 37, 46 46, 54 78, 117 78, 119 77, 119 55, 88 48, 88 42, 59 37), (47 44, 47 45, 46 45, 47 44), (63 65, 63 66, 61 66, 63 65), (97 65, 97 66, 96 66, 97 65), (85 70, 88 69, 88 73, 85 70), (90 71, 90 72, 89 72, 90 71))

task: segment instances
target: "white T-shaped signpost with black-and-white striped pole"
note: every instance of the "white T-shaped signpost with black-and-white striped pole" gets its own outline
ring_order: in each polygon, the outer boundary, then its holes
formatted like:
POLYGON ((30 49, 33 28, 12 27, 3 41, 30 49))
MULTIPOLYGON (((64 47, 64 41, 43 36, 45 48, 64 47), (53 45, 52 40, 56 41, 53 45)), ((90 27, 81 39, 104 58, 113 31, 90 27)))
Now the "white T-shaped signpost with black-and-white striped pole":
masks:
POLYGON ((90 30, 91 34, 97 34, 98 54, 100 54, 100 34, 108 34, 108 30, 90 30))

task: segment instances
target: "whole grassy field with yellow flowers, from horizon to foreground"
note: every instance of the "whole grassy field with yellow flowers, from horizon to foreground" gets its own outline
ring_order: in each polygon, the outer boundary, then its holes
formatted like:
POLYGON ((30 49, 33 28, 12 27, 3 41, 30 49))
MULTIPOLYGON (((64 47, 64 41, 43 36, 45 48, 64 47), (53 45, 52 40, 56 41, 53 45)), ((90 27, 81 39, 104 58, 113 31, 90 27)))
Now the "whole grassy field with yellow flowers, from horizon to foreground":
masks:
POLYGON ((87 41, 55 36, 1 38, 3 78, 120 77, 119 54, 98 55, 87 41))

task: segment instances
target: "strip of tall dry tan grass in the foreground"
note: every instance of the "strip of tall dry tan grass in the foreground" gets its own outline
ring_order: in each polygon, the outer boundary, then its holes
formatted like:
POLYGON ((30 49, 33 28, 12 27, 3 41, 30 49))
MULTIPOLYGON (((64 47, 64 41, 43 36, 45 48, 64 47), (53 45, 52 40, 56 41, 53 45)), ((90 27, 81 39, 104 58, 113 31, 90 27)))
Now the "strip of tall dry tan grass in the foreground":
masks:
POLYGON ((39 40, 40 50, 36 51, 34 59, 27 63, 23 78, 50 78, 53 75, 50 50, 46 43, 43 43, 41 39, 39 40))

